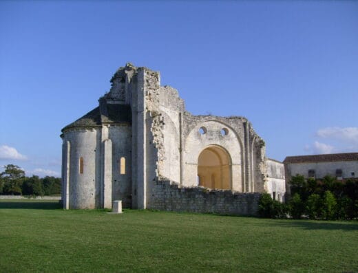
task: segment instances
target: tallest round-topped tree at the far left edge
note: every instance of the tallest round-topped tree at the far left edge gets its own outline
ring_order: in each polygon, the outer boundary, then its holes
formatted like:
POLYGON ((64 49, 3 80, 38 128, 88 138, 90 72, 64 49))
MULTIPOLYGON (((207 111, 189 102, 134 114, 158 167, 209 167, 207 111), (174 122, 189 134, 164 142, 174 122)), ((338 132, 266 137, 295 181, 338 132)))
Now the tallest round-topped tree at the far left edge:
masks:
POLYGON ((3 193, 8 195, 21 195, 21 186, 25 171, 19 166, 8 164, 4 166, 5 171, 0 173, 0 179, 3 185, 3 193))

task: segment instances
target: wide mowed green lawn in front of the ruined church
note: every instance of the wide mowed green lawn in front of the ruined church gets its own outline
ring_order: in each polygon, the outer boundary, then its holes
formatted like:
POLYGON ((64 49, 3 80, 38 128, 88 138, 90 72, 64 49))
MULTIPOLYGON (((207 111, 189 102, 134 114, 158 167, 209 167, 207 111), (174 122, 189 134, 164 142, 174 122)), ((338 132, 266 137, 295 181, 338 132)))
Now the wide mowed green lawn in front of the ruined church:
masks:
POLYGON ((358 272, 357 221, 0 200, 0 272, 358 272))

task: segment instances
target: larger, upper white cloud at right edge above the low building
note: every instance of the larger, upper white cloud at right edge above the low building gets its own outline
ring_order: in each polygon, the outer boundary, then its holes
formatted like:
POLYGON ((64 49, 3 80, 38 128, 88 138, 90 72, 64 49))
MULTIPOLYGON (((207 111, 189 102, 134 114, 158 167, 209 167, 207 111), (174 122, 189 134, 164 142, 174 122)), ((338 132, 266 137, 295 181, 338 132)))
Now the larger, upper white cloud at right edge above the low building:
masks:
POLYGON ((358 144, 358 127, 326 127, 316 133, 319 138, 341 140, 350 144, 358 144))

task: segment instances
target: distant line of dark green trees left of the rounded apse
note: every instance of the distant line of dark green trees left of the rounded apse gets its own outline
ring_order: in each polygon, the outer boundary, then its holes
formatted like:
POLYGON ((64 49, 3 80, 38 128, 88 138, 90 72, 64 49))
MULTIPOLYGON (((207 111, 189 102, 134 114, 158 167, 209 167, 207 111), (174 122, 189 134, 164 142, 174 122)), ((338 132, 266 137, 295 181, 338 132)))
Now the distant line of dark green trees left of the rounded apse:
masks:
POLYGON ((0 195, 60 195, 61 178, 37 175, 26 177, 25 172, 17 165, 4 166, 0 173, 0 195))

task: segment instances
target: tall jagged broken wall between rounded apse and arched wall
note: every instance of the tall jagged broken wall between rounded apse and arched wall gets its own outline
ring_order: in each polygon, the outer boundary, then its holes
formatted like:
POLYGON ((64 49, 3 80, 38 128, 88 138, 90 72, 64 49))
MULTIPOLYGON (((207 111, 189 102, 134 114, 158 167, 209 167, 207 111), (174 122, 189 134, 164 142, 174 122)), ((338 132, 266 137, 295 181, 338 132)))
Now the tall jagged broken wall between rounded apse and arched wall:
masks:
POLYGON ((143 71, 143 90, 147 204, 156 180, 180 181, 180 113, 184 109, 184 102, 176 89, 160 87, 160 74, 150 69, 143 71))

